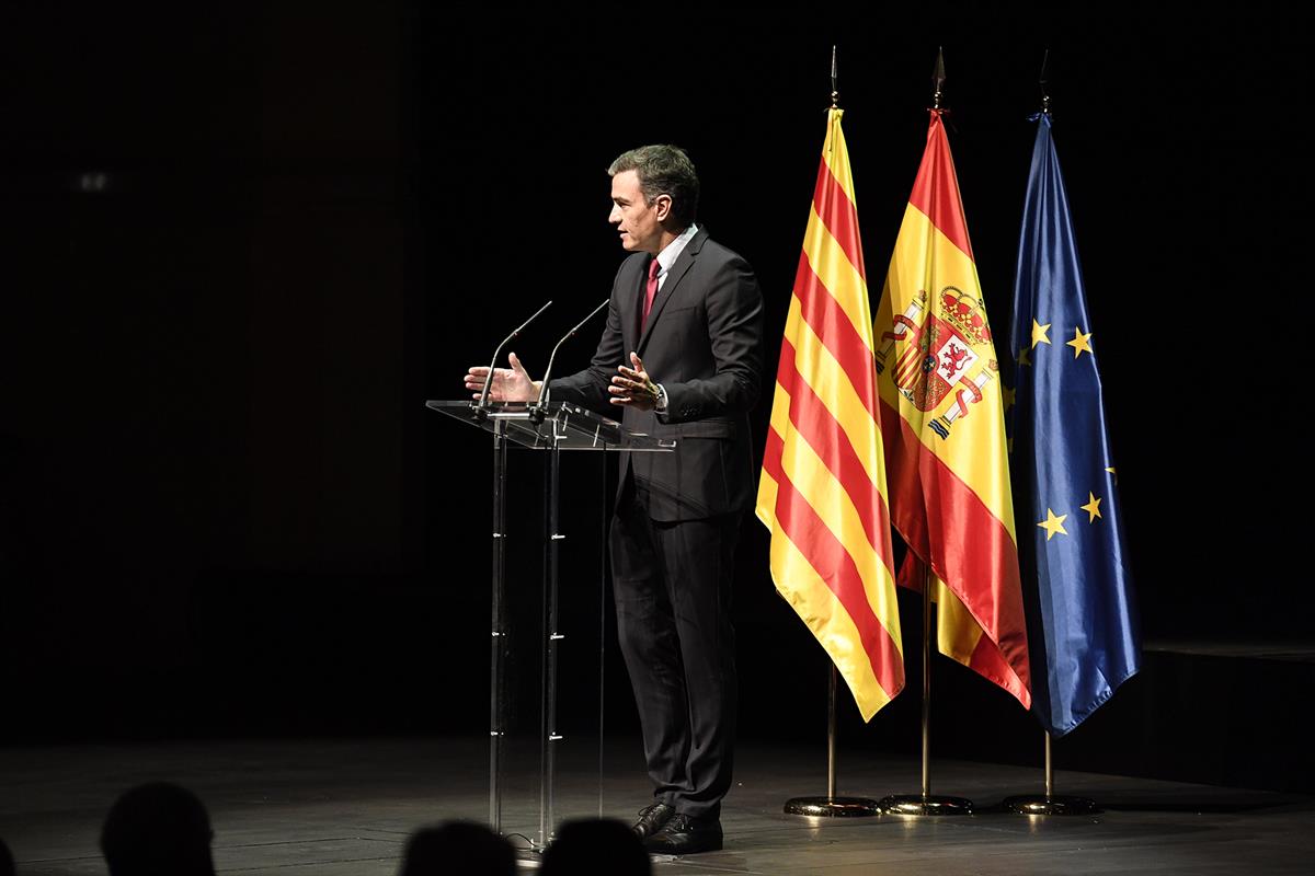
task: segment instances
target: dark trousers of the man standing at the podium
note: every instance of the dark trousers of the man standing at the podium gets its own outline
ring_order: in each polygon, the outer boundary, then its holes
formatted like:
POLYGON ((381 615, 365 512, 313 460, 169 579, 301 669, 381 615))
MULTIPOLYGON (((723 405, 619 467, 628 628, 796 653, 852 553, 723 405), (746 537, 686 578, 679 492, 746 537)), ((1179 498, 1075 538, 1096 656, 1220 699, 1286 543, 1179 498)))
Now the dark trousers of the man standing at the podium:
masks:
POLYGON ((694 817, 717 817, 731 787, 739 517, 659 523, 631 482, 611 523, 617 630, 654 796, 694 817))

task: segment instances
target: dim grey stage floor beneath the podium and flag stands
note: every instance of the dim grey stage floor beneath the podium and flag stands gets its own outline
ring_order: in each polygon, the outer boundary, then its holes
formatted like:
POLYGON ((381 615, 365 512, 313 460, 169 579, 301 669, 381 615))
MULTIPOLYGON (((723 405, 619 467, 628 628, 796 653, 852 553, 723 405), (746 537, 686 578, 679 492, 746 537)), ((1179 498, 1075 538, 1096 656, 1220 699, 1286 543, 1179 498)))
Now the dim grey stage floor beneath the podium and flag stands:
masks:
MULTIPOLYGON (((647 789, 634 739, 602 756, 564 745, 558 821, 630 820, 647 789)), ((406 835, 447 818, 488 818, 481 739, 216 741, 0 750, 0 838, 20 876, 105 873, 96 841, 114 797, 149 780, 195 791, 210 810, 221 873, 373 876, 397 872, 406 835)), ((517 741, 505 783, 504 833, 537 838, 535 745, 517 741)), ((1235 753, 1245 756, 1244 753, 1235 753)), ((726 801, 726 848, 659 859, 658 873, 1308 873, 1315 797, 1059 772, 1056 792, 1095 799, 1088 817, 1022 817, 1003 797, 1036 793, 1039 770, 940 760, 936 793, 972 799, 968 817, 806 820, 781 813, 825 792, 825 751, 742 743, 726 801)), ((918 789, 906 758, 840 755, 840 793, 918 789)))

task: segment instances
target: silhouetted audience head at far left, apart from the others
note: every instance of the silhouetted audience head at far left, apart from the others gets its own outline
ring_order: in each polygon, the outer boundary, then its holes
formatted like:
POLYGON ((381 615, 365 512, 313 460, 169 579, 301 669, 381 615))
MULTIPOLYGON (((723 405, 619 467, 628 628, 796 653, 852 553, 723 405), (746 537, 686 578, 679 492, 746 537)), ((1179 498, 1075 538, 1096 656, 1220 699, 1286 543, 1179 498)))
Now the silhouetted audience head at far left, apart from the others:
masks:
POLYGON ((214 876, 212 837, 210 817, 195 793, 153 781, 114 801, 100 850, 110 876, 214 876))

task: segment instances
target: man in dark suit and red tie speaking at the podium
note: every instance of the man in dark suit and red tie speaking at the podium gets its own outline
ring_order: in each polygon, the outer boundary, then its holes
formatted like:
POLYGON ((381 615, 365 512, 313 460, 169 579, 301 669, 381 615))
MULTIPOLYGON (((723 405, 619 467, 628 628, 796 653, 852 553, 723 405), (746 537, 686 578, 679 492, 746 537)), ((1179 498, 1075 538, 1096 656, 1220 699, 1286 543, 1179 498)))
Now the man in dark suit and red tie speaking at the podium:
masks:
MULTIPOLYGON (((635 831, 651 851, 722 847, 731 785, 735 538, 753 500, 748 410, 763 374, 763 301, 748 263, 696 225, 698 176, 684 151, 644 146, 609 168, 627 257, 585 370, 548 394, 622 408, 626 428, 675 439, 673 453, 622 454, 610 548, 621 650, 655 791, 635 831)), ((539 385, 515 355, 492 398, 539 385)), ((487 368, 466 386, 479 391, 487 368)))

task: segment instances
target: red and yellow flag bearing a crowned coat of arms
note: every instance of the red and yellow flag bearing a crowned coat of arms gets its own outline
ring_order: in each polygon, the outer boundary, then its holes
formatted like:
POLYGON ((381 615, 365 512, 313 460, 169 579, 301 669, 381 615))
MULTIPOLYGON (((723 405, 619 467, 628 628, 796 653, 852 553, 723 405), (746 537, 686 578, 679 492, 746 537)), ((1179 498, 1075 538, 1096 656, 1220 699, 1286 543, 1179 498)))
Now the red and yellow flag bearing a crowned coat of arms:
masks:
POLYGON ((877 307, 881 431, 899 583, 934 573, 938 646, 1031 705, 999 362, 942 112, 877 307))

